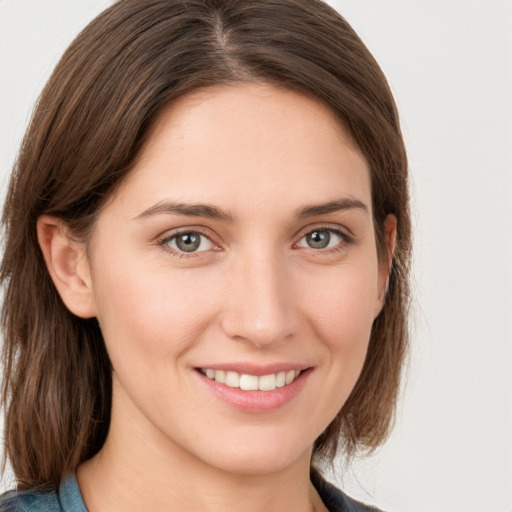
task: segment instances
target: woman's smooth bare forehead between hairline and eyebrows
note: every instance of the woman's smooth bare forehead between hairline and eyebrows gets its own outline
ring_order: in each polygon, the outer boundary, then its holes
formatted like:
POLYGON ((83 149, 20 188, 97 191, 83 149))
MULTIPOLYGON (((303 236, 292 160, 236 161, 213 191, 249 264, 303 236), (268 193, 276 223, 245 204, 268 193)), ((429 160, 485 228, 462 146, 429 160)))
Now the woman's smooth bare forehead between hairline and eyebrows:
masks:
POLYGON ((253 213, 344 195, 371 208, 368 165, 334 114, 261 84, 204 89, 167 107, 119 195, 134 213, 169 195, 253 213))

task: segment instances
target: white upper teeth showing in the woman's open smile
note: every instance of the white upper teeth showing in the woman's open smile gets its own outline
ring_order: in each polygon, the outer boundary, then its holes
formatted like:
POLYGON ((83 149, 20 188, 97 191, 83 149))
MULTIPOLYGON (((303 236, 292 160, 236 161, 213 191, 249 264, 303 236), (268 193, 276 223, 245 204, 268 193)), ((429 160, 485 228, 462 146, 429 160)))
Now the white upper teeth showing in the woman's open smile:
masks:
POLYGON ((274 391, 291 384, 302 373, 301 370, 289 370, 257 376, 211 368, 199 368, 198 370, 210 380, 244 391, 274 391))

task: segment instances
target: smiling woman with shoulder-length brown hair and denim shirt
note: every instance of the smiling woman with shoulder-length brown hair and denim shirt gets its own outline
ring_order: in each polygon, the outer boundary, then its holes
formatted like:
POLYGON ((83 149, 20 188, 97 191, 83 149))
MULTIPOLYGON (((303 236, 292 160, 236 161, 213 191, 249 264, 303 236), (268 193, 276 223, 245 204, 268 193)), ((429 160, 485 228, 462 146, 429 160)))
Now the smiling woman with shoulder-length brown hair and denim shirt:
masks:
POLYGON ((117 2, 43 91, 3 219, 3 510, 368 510, 313 464, 389 430, 407 165, 335 11, 117 2))

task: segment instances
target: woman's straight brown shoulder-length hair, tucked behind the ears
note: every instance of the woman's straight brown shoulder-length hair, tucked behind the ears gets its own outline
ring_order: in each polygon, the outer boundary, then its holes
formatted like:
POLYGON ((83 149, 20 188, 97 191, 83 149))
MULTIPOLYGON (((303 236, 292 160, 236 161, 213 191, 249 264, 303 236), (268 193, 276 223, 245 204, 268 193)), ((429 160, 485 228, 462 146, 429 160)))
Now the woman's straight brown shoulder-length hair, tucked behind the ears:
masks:
POLYGON ((315 454, 329 458, 343 447, 352 455, 386 437, 408 338, 410 219, 398 115, 377 63, 348 23, 317 0, 120 0, 57 65, 5 204, 2 399, 5 449, 21 487, 55 487, 93 456, 111 406, 98 323, 60 300, 38 246, 38 217, 56 215, 86 239, 169 102, 247 81, 316 97, 338 116, 371 170, 381 261, 384 219, 398 219, 387 298, 362 374, 315 454))

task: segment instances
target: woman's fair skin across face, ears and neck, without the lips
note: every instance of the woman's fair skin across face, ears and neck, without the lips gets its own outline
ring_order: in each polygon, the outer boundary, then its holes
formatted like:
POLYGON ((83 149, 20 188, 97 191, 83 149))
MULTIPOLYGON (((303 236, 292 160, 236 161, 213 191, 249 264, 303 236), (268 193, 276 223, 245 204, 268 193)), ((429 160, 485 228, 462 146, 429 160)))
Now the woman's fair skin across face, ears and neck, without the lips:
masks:
MULTIPOLYGON (((385 227, 392 254, 395 219, 385 227)), ((87 247, 59 219, 38 232, 61 297, 97 317, 114 368, 108 439, 77 472, 91 512, 324 510, 313 442, 360 374, 389 263, 367 163, 325 106, 261 84, 192 93, 162 112, 87 247), (224 217, 155 211, 169 202, 224 217), (315 229, 329 247, 308 245, 315 229), (201 232, 199 250, 180 253, 177 230, 201 232), (240 362, 311 370, 282 407, 255 413, 197 371, 240 362)))

